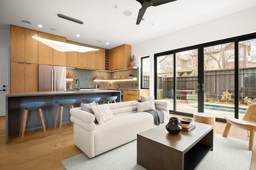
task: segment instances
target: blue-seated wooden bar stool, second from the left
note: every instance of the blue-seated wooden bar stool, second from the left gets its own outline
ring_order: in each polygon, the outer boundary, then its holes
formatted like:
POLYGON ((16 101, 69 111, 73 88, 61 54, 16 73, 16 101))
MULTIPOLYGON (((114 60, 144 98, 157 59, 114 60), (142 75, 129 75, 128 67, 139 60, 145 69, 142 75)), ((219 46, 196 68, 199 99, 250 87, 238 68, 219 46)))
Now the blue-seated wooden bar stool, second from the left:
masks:
MULTIPOLYGON (((71 108, 74 108, 74 102, 76 102, 76 99, 70 99, 70 100, 59 100, 55 103, 58 104, 57 112, 56 112, 56 118, 54 123, 54 129, 56 129, 57 121, 60 121, 60 134, 61 134, 61 127, 62 127, 62 115, 63 115, 63 106, 69 106, 69 110, 71 108), (58 114, 60 109, 60 119, 58 120, 58 114)), ((69 118, 70 119, 70 118, 69 118)), ((64 119, 65 120, 65 119, 64 119)), ((70 123, 71 121, 64 122, 64 123, 70 123)))

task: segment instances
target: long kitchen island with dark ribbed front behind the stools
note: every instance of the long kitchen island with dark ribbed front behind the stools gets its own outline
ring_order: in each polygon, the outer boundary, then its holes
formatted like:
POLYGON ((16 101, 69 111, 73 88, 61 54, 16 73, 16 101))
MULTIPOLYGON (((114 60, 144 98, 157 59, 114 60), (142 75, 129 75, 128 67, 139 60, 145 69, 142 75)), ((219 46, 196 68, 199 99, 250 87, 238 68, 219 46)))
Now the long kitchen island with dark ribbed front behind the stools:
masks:
MULTIPOLYGON (((20 92, 20 93, 8 93, 6 95, 6 144, 9 142, 9 137, 18 135, 20 132, 20 123, 22 119, 23 108, 20 106, 22 103, 30 102, 46 102, 42 107, 44 116, 44 123, 47 129, 54 127, 54 121, 58 104, 55 101, 76 99, 74 107, 80 107, 83 99, 86 98, 103 98, 108 96, 118 96, 116 102, 121 102, 120 90, 86 90, 86 91, 55 91, 55 92, 20 92)), ((103 100, 99 101, 102 104, 103 100)), ((63 108, 63 119, 69 119, 70 113, 68 107, 63 108)), ((68 120, 69 121, 69 120, 68 120)), ((27 123, 34 124, 40 123, 40 115, 38 109, 30 110, 28 113, 27 123)), ((63 121, 67 122, 67 121, 63 121)), ((58 125, 58 123, 57 123, 58 125)), ((37 127, 41 127, 41 124, 34 125, 36 127, 30 131, 37 131, 37 127)))

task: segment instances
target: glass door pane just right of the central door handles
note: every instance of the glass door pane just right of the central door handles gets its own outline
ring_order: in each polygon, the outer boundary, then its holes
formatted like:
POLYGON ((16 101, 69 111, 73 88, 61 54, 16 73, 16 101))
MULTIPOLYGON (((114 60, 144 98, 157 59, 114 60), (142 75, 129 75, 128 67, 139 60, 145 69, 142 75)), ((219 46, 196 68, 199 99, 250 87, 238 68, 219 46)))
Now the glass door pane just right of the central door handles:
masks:
POLYGON ((204 47, 204 113, 234 117, 234 42, 204 47))

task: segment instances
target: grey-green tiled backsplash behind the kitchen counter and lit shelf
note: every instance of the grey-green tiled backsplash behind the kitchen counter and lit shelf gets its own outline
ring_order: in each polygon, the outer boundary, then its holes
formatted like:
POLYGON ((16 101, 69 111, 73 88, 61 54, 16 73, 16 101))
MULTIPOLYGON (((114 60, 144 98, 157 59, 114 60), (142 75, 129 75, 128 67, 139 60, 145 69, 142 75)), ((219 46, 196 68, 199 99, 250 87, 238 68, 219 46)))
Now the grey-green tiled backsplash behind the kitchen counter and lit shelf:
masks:
MULTIPOLYGON (((96 78, 104 78, 105 76, 107 78, 113 78, 116 77, 128 77, 129 75, 132 75, 133 77, 138 78, 139 77, 139 71, 137 69, 132 70, 122 70, 122 71, 116 71, 116 72, 105 72, 105 71, 95 71, 95 70, 84 70, 84 69, 66 69, 66 74, 68 75, 68 72, 70 76, 75 77, 80 80, 80 88, 95 88, 96 84, 99 85, 99 88, 116 88, 119 84, 119 88, 127 88, 127 89, 138 89, 138 82, 136 81, 102 81, 102 82, 94 82, 92 79, 96 78), (137 86, 135 86, 137 85, 137 86)), ((67 81, 72 82, 72 81, 67 81)), ((76 80, 73 80, 73 86, 72 88, 77 88, 78 84, 76 84, 76 80)), ((67 86, 68 89, 68 86, 67 86)))

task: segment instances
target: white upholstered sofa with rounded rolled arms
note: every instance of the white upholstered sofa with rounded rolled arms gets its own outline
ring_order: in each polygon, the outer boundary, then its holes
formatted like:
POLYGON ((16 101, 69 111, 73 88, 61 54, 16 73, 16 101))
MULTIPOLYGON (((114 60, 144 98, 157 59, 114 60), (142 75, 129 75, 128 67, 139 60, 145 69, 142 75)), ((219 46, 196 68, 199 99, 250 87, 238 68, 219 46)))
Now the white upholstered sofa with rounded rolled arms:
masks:
MULTIPOLYGON (((165 125, 169 121, 168 102, 154 101, 156 109, 164 112, 165 125)), ((114 118, 102 124, 94 123, 95 115, 81 107, 70 110, 74 122, 74 144, 89 158, 137 139, 137 134, 155 127, 152 114, 137 112, 136 101, 106 104, 114 118)))

